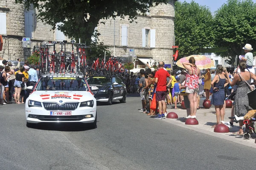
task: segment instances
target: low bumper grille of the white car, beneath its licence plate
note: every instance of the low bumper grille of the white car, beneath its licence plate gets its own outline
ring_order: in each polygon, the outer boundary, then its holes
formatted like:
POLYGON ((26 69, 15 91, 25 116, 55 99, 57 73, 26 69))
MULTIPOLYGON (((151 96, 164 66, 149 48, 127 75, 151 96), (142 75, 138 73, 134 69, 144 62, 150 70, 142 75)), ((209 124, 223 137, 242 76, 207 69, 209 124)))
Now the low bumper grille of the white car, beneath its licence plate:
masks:
POLYGON ((84 119, 84 115, 73 115, 73 116, 49 116, 39 115, 38 119, 41 121, 81 121, 84 119))

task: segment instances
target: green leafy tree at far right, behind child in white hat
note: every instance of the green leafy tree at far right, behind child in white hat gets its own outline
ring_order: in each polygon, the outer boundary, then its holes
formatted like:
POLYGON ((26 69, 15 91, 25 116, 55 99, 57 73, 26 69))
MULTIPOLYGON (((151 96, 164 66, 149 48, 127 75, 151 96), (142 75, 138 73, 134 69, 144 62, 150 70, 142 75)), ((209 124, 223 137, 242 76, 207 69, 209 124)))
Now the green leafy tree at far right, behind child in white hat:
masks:
POLYGON ((236 55, 244 54, 246 43, 256 48, 256 4, 252 0, 227 0, 215 12, 214 30, 215 46, 227 49, 217 54, 234 63, 236 55))

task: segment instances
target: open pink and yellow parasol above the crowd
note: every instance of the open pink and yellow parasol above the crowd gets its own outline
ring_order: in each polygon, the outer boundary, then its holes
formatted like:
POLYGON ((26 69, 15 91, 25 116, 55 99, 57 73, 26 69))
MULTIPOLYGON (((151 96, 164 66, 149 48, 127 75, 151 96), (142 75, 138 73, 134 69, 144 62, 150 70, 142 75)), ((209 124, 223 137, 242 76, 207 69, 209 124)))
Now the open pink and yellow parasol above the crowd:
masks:
POLYGON ((206 57, 205 55, 190 55, 188 57, 180 58, 180 60, 177 61, 176 65, 185 69, 182 65, 183 62, 189 63, 189 58, 194 57, 195 58, 195 65, 199 69, 209 69, 211 67, 214 67, 214 61, 210 58, 206 57))

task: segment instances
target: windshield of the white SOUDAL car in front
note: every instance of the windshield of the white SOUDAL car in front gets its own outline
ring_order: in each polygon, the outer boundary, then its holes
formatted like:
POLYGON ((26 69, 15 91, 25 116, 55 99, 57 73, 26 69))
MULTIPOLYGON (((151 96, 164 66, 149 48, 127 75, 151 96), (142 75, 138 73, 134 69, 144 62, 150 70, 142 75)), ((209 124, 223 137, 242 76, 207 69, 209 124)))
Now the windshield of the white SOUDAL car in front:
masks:
POLYGON ((41 78, 37 90, 88 91, 84 78, 41 78))

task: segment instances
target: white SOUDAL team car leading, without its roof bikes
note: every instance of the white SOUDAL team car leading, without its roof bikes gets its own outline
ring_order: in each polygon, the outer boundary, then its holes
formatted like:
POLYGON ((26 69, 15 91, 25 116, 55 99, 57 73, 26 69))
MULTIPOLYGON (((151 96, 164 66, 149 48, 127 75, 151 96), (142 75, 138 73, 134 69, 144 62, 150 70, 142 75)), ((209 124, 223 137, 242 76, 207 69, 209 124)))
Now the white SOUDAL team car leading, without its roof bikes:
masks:
POLYGON ((27 89, 33 90, 26 99, 27 127, 41 122, 81 122, 96 128, 96 99, 83 76, 43 75, 34 89, 27 89))

